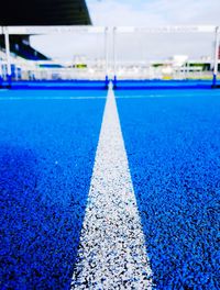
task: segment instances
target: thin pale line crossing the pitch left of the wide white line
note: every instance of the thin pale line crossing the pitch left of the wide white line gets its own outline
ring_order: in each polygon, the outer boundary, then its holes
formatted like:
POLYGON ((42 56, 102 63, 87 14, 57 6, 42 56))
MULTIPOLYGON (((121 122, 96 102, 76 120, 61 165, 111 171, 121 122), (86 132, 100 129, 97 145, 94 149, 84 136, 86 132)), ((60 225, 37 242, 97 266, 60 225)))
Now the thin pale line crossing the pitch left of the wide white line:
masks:
POLYGON ((32 100, 96 100, 106 97, 0 97, 0 101, 32 101, 32 100))

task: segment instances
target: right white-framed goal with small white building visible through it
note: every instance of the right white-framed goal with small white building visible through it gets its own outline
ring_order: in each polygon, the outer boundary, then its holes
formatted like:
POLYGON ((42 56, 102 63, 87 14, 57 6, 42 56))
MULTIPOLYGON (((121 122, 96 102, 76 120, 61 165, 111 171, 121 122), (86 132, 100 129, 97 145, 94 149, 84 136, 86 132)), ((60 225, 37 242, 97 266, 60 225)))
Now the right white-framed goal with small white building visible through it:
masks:
POLYGON ((206 80, 217 85, 219 27, 113 29, 117 80, 206 80))

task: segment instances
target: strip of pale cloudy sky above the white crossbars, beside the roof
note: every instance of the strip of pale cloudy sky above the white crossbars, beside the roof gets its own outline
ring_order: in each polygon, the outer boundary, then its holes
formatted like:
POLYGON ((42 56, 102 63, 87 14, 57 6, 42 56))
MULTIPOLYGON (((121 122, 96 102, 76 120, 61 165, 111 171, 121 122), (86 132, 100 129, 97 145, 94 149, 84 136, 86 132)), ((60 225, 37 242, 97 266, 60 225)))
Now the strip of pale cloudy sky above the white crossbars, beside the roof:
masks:
POLYGON ((95 25, 220 24, 219 0, 88 0, 95 25))

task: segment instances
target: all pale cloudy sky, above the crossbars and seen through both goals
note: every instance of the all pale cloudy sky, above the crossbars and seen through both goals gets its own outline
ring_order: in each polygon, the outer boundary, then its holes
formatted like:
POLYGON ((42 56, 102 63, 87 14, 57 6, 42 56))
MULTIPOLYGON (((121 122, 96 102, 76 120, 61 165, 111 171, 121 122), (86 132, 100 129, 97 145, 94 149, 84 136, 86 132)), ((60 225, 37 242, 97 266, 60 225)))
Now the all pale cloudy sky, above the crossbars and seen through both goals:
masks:
MULTIPOLYGON (((220 0, 87 0, 92 25, 98 26, 162 26, 220 25, 220 0)), ((109 37, 112 35, 110 33, 109 37)), ((112 40, 110 40, 112 42, 112 40)), ((32 45, 56 59, 103 57, 103 35, 34 36, 32 45)), ((112 54, 112 45, 109 44, 112 54), (111 47, 110 47, 111 46, 111 47)), ((210 56, 212 34, 118 35, 118 59, 143 60, 189 55, 210 56), (163 45, 162 45, 163 44, 163 45), (161 48, 161 49, 160 49, 161 48)), ((111 56, 110 56, 111 57, 111 56)))

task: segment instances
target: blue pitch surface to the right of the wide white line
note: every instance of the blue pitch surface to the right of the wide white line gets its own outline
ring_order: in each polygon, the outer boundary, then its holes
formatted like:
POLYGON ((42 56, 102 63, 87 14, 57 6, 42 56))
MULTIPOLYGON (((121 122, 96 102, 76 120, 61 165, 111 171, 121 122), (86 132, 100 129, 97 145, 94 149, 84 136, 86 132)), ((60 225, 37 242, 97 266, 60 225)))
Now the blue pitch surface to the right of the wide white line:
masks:
POLYGON ((220 91, 117 91, 156 289, 220 289, 220 91))

